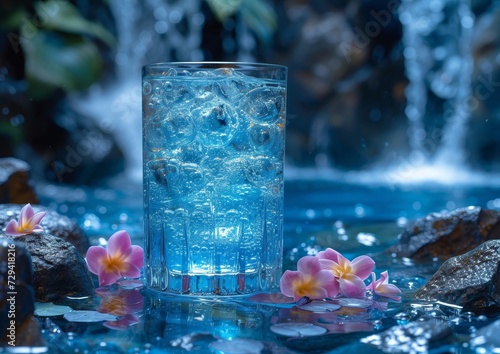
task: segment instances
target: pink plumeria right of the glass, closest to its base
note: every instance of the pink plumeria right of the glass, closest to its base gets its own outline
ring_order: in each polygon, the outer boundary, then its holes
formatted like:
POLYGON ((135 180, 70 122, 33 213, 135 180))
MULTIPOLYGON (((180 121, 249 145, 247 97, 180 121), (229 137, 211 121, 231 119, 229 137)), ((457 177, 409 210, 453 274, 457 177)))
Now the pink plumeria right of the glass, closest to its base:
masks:
POLYGON ((299 301, 303 297, 310 300, 321 300, 338 294, 338 283, 333 273, 321 269, 319 259, 304 256, 297 262, 297 270, 287 270, 280 281, 283 295, 299 301))

